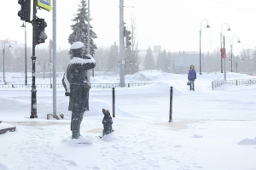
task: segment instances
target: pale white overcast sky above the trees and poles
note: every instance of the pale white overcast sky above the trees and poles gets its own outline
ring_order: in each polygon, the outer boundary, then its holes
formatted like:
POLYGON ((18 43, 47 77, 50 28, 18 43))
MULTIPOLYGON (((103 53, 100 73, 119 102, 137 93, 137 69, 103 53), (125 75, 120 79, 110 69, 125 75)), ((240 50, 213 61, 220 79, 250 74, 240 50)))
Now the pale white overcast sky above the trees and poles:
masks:
MULTIPOLYGON (((25 42, 18 0, 0 0, 0 39, 9 38, 25 42)), ((57 2, 57 47, 69 48, 67 42, 72 33, 70 26, 77 13, 80 0, 59 0, 57 2)), ((199 51, 201 30, 201 51, 213 51, 220 46, 220 33, 226 38, 227 50, 233 43, 234 54, 242 48, 256 47, 256 3, 255 0, 124 0, 124 18, 127 27, 131 17, 137 20, 137 41, 139 48, 161 45, 167 51, 199 51), (208 20, 210 29, 205 28, 208 20), (204 20, 201 22, 201 20, 204 20), (227 31, 228 23, 231 31, 227 31), (237 37, 241 43, 237 43, 237 37), (232 38, 234 37, 234 38, 232 38), (233 41, 232 41, 233 39, 233 41)), ((119 43, 119 0, 90 0, 90 22, 96 32, 98 47, 119 43)), ((38 17, 48 24, 45 44, 52 39, 52 12, 38 10, 38 17)), ((32 25, 26 23, 27 43, 32 44, 32 25)), ((1 47, 2 48, 2 47, 1 47)))

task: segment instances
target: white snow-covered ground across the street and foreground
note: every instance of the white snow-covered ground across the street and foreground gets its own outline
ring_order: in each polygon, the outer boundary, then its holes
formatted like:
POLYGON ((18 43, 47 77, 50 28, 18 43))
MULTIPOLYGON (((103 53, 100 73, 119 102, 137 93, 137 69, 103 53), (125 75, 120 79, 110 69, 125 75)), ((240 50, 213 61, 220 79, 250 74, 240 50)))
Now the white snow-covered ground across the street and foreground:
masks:
MULTIPOLYGON (((256 77, 227 73, 228 80, 247 78, 256 77)), ((195 91, 189 91, 187 75, 141 71, 126 76, 126 83, 155 83, 115 88, 114 132, 102 139, 102 108, 112 113, 112 89, 92 88, 81 125, 80 140, 88 144, 71 139, 64 89, 57 88, 57 112, 64 120, 47 120, 52 89, 37 88, 38 118, 30 119, 31 88, 0 88, 0 128, 16 127, 0 135, 0 170, 255 170, 256 86, 212 90, 212 80, 221 79, 221 73, 198 74, 195 91)), ((6 73, 6 80, 21 84, 24 75, 6 73)), ((119 82, 119 77, 96 76, 91 82, 119 82)))

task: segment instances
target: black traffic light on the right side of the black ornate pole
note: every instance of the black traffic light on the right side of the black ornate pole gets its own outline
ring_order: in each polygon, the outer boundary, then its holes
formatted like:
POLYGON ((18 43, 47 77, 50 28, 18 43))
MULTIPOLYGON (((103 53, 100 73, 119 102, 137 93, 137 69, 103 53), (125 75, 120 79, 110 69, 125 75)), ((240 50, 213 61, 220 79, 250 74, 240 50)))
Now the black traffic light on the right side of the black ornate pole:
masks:
POLYGON ((44 33, 44 28, 47 26, 47 23, 44 19, 36 19, 36 44, 44 43, 47 39, 47 35, 44 33))

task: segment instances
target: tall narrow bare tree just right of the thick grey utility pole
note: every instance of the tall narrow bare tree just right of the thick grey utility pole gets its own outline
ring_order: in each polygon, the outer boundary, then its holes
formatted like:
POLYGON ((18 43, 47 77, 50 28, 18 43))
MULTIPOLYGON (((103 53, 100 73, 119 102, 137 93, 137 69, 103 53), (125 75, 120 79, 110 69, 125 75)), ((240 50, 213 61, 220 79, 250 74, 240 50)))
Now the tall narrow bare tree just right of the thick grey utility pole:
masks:
POLYGON ((131 46, 125 49, 125 74, 134 74, 139 71, 139 50, 136 39, 136 18, 131 18, 131 46))

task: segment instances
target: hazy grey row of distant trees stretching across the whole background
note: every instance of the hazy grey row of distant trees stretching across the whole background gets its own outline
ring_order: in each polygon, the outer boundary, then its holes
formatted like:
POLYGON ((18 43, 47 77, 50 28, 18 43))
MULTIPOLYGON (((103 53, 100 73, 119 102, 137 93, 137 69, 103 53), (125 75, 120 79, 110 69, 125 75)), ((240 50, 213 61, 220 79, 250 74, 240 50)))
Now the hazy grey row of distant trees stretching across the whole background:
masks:
MULTIPOLYGON (((65 71, 70 59, 68 49, 57 50, 56 53, 56 70, 65 71)), ((183 52, 186 53, 186 52, 183 52)), ((182 53, 182 54, 183 54, 182 53)), ((36 48, 36 68, 38 72, 42 72, 45 66, 45 71, 49 72, 49 49, 36 48), (40 62, 40 65, 38 65, 40 62)), ((147 54, 145 55, 143 65, 144 70, 162 70, 172 73, 181 73, 175 67, 174 56, 178 53, 161 51, 154 59, 153 52, 148 47, 147 54)), ((226 71, 231 71, 230 52, 226 58, 226 71)), ((32 48, 27 48, 27 71, 32 71, 32 48)), ((232 71, 246 73, 249 75, 256 74, 256 50, 244 50, 239 55, 232 57, 232 71)), ((119 73, 119 46, 114 42, 110 48, 99 48, 95 54, 96 68, 95 71, 108 71, 118 74, 119 73)), ((0 53, 0 60, 3 61, 3 53, 0 53)), ((125 49, 125 74, 134 74, 139 71, 138 65, 140 59, 138 51, 132 48, 125 49), (128 55, 130 54, 130 55, 128 55)), ((5 71, 24 72, 25 71, 25 51, 24 48, 5 48, 4 57, 5 71)), ((3 71, 3 62, 0 62, 1 72, 3 71)), ((188 68, 186 68, 187 70, 188 68)), ((199 68, 195 69, 199 71, 199 68)), ((202 72, 215 72, 220 71, 220 51, 216 48, 212 53, 205 54, 204 63, 202 65, 202 72)), ((182 72, 183 73, 183 72, 182 72)))

